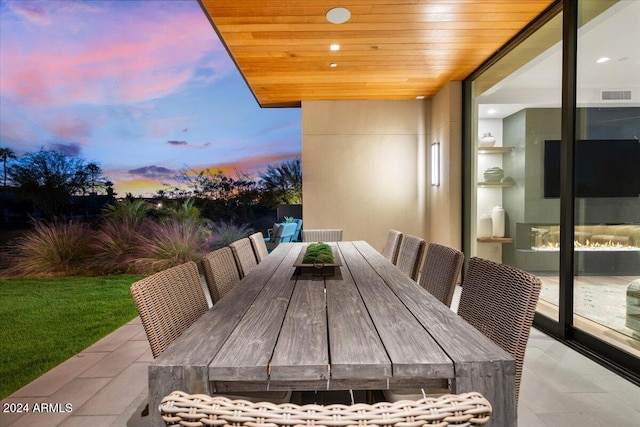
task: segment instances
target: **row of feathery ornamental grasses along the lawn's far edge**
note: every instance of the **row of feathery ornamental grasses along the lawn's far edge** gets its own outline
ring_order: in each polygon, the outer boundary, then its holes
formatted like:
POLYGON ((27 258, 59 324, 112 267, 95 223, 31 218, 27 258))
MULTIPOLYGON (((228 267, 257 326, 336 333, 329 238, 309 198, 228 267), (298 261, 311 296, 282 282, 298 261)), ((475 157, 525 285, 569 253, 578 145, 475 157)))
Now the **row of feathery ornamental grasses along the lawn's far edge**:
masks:
POLYGON ((212 230, 208 224, 189 200, 161 211, 144 201, 125 200, 109 205, 93 228, 74 221, 39 221, 2 253, 10 258, 3 264, 10 267, 0 275, 149 274, 199 261, 217 242, 228 244, 252 231, 230 223, 212 230))

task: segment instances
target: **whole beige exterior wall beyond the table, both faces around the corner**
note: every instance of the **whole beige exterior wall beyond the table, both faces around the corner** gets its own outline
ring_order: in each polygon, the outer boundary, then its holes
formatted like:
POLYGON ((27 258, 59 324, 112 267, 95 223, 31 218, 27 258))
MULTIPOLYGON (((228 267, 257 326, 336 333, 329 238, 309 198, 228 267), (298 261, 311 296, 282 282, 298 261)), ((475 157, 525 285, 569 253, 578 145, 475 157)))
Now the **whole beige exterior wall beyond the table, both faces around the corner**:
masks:
POLYGON ((345 240, 366 240, 378 250, 391 228, 459 248, 460 84, 441 94, 303 102, 304 227, 342 228, 345 240), (440 187, 430 185, 434 140, 442 148, 440 187))

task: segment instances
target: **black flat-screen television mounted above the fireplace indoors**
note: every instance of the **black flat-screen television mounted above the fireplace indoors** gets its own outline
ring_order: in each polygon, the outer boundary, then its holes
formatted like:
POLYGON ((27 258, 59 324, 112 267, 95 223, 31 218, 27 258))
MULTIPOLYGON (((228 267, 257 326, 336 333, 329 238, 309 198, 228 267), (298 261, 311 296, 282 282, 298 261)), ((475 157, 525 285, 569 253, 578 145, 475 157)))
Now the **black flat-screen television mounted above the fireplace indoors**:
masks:
MULTIPOLYGON (((576 197, 640 197, 640 141, 579 140, 576 197)), ((544 197, 560 197, 560 141, 544 143, 544 197)))

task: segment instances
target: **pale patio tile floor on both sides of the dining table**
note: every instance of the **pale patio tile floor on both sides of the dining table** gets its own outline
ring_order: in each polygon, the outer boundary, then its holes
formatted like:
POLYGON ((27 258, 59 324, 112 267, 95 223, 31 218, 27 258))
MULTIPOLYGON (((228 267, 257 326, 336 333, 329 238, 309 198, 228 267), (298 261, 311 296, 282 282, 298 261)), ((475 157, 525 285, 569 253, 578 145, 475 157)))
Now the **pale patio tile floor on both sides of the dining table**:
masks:
MULTIPOLYGON (((458 292, 459 293, 459 292, 458 292)), ((455 310, 455 303, 452 305, 455 310)), ((139 318, 2 401, 59 404, 53 412, 0 413, 0 427, 149 427, 147 366, 139 318), (72 410, 64 412, 65 404, 72 410)), ((640 387, 533 329, 520 391, 520 427, 637 425, 640 387)))

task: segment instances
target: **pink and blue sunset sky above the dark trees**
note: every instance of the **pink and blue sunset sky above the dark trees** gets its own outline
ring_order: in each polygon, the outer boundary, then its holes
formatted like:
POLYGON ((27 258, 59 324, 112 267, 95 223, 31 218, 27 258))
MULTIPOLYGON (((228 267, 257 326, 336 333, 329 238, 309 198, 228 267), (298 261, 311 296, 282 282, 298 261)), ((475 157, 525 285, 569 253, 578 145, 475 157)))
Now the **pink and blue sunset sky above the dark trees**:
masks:
POLYGON ((1 0, 0 138, 97 162, 120 196, 301 152, 300 110, 258 106, 196 0, 1 0))

